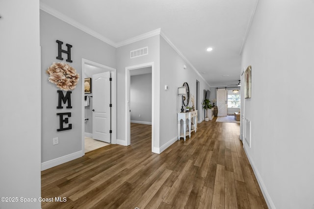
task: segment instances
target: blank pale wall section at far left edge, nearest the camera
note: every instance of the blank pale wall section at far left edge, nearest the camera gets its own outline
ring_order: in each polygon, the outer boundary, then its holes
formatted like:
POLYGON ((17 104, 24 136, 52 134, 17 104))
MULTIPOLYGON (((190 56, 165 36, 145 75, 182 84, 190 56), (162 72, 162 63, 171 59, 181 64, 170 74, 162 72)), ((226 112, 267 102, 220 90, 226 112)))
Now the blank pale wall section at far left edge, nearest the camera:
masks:
POLYGON ((41 100, 39 0, 1 0, 1 209, 40 209, 41 100))

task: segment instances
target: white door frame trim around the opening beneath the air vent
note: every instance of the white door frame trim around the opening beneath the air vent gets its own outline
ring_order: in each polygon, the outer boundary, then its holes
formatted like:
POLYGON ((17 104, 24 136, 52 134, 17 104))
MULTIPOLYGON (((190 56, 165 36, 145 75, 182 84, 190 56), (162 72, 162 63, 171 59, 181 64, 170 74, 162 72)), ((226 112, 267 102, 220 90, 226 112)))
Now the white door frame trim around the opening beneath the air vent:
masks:
POLYGON ((126 67, 125 71, 125 79, 126 79, 126 86, 125 86, 125 139, 127 141, 127 146, 131 145, 131 116, 130 116, 130 79, 131 74, 130 70, 140 69, 140 68, 146 68, 151 67, 152 68, 152 152, 156 152, 154 149, 154 109, 155 109, 155 103, 154 103, 154 62, 151 63, 144 63, 134 66, 126 67))

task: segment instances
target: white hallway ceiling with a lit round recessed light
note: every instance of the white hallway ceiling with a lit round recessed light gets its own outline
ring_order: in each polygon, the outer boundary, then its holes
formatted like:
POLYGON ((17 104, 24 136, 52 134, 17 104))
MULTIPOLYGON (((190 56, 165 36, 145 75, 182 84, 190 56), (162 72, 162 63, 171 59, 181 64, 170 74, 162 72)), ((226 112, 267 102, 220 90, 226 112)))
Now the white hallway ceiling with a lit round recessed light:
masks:
MULTIPOLYGON (((40 0, 41 9, 112 46, 158 28, 211 87, 240 80, 258 0, 40 0), (212 47, 208 52, 206 49, 212 47)), ((191 69, 192 70, 192 69, 191 69)))

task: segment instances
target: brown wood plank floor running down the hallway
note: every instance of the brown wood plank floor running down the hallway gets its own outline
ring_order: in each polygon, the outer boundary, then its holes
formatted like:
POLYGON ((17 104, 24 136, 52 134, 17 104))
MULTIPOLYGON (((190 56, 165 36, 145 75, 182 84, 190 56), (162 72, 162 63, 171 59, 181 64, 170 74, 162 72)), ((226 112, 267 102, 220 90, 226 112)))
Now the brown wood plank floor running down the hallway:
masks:
POLYGON ((43 209, 262 209, 239 124, 198 125, 191 139, 151 152, 151 126, 131 124, 131 146, 110 144, 42 171, 43 209))

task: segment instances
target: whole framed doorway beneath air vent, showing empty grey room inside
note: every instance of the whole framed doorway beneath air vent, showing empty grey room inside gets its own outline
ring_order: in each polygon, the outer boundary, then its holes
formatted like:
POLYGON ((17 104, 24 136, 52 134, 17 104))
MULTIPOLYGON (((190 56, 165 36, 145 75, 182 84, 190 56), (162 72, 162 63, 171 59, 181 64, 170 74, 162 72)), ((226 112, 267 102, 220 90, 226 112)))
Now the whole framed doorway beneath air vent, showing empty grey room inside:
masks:
POLYGON ((136 139, 140 135, 143 140, 150 139, 152 151, 154 147, 153 73, 153 63, 126 68, 127 145, 137 143, 136 139))

